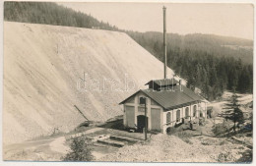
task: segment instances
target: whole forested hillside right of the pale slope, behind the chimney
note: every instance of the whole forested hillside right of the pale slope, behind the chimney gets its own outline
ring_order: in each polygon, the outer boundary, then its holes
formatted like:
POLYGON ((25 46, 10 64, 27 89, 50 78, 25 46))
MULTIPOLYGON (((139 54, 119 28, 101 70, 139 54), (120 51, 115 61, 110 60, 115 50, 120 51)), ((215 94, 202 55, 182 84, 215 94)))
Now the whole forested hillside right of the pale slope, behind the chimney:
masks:
MULTIPOLYGON (((163 61, 162 33, 128 32, 144 48, 163 61)), ((187 86, 202 89, 209 100, 225 89, 252 92, 253 42, 210 34, 168 34, 167 64, 187 86), (230 48, 231 45, 234 48, 230 48)))

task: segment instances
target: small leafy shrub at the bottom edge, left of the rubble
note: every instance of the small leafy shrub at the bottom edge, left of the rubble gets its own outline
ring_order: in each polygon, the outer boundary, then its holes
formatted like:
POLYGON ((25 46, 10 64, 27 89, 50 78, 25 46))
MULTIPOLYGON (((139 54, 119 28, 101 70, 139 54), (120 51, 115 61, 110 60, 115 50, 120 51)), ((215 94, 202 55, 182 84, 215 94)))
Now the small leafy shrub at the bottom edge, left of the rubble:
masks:
POLYGON ((70 144, 70 151, 63 158, 64 161, 92 161, 94 156, 92 155, 92 149, 89 148, 89 140, 80 137, 72 138, 70 144))

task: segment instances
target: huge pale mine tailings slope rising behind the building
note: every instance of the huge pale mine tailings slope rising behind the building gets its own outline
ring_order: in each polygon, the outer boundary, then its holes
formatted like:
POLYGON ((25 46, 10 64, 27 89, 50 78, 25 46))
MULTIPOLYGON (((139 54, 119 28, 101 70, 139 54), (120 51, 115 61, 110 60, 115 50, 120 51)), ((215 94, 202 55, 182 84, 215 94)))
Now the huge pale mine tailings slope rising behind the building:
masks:
POLYGON ((85 120, 74 105, 90 120, 120 115, 118 103, 162 70, 123 32, 5 22, 4 143, 74 129, 85 120), (135 89, 123 91, 125 80, 135 89))

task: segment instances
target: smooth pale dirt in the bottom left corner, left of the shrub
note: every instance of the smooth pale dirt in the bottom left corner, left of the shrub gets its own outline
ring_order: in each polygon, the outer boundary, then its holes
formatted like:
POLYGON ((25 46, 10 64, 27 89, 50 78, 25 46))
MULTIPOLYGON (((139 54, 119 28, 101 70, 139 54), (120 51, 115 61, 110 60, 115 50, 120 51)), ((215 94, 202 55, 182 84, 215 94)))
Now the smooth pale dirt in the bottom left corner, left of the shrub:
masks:
MULTIPOLYGON (((84 133, 91 135, 101 130, 103 129, 89 128, 84 133)), ((74 137, 75 135, 76 133, 70 133, 5 145, 3 148, 3 159, 16 161, 61 161, 61 157, 69 150, 66 138, 74 137)))

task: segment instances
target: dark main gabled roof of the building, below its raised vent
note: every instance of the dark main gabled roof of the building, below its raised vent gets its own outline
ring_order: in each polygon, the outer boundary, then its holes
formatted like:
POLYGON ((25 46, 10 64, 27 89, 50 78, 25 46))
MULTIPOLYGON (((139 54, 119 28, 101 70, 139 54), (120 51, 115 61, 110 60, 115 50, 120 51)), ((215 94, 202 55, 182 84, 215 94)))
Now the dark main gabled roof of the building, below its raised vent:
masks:
MULTIPOLYGON (((145 93, 148 97, 152 98, 154 101, 156 101, 158 104, 160 104, 161 107, 164 109, 174 109, 181 106, 185 106, 186 104, 196 102, 203 100, 202 97, 194 93, 192 90, 187 88, 184 85, 182 86, 182 91, 180 91, 180 85, 173 86, 173 90, 153 90, 153 89, 144 89, 139 90, 127 99, 133 97, 138 92, 142 91, 145 93)), ((125 103, 127 100, 125 99, 120 104, 125 103)))

